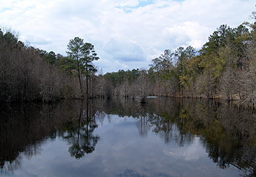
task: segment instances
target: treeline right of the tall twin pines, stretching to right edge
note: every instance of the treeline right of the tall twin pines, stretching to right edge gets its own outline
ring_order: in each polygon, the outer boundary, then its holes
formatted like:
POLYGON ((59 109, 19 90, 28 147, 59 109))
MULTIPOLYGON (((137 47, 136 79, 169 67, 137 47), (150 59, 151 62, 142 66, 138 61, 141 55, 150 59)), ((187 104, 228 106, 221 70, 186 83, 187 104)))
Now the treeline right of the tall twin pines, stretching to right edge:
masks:
POLYGON ((256 22, 222 25, 199 51, 191 46, 165 50, 147 70, 119 70, 104 79, 112 94, 224 98, 255 108, 256 22))

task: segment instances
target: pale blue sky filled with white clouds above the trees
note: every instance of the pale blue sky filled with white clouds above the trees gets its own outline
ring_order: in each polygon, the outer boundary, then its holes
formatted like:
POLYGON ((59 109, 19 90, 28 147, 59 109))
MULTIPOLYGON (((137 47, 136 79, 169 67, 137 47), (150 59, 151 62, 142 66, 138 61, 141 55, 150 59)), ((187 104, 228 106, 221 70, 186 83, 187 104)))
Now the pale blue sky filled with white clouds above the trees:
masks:
POLYGON ((103 72, 148 68, 165 49, 199 50, 222 24, 249 21, 255 0, 1 0, 0 26, 66 55, 70 39, 95 46, 103 72))

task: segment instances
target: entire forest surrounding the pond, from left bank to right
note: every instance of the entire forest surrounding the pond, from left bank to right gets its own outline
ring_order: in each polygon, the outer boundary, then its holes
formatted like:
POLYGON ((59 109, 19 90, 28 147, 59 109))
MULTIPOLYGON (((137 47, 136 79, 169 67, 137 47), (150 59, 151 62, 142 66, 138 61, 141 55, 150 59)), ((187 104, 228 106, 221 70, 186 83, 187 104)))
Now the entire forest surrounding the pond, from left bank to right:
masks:
POLYGON ((256 108, 256 12, 253 23, 222 25, 200 50, 164 50, 149 69, 97 71, 91 43, 75 37, 66 56, 18 41, 0 30, 0 101, 53 102, 60 99, 173 96, 236 100, 256 108))

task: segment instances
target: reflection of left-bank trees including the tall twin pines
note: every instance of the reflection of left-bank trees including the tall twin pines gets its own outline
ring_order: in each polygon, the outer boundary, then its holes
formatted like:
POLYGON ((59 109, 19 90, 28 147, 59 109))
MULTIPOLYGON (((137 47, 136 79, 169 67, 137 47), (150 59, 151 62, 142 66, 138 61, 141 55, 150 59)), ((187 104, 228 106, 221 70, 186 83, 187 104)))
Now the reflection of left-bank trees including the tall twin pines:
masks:
POLYGON ((24 104, 0 106, 0 175, 20 168, 23 157, 31 159, 45 140, 56 136, 71 145, 70 155, 81 158, 92 153, 98 136, 93 103, 24 104), (78 118, 78 119, 77 119, 78 118))

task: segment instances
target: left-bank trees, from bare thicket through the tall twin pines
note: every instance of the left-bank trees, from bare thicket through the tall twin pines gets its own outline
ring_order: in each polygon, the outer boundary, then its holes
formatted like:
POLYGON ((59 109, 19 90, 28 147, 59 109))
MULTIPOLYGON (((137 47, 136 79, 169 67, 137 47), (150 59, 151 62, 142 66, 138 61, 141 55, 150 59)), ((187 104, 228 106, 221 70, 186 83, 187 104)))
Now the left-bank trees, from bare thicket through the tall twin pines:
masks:
POLYGON ((27 46, 14 31, 0 29, 0 101, 53 102, 88 95, 83 85, 93 86, 88 84, 96 71, 91 62, 98 60, 93 49, 75 37, 62 56, 27 46))

